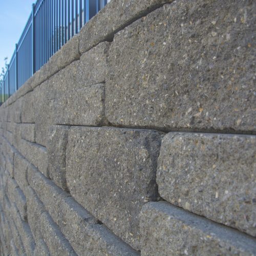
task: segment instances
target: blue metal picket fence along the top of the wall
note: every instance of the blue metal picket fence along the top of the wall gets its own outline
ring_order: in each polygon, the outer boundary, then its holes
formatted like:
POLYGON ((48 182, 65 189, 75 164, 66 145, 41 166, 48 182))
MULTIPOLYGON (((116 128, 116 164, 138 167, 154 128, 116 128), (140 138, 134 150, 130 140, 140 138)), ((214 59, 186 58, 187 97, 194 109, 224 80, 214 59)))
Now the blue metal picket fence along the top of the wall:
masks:
POLYGON ((110 0, 37 0, 1 83, 0 104, 110 0))

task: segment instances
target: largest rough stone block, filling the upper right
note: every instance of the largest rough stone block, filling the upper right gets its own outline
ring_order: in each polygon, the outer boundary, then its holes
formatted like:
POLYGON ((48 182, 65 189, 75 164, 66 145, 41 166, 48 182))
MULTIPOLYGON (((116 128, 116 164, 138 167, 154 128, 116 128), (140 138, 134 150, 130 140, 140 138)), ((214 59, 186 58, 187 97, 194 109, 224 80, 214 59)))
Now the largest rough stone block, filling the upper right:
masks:
POLYGON ((254 131, 255 8, 255 1, 175 1, 118 32, 108 58, 109 121, 254 131))

